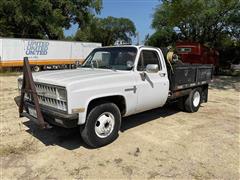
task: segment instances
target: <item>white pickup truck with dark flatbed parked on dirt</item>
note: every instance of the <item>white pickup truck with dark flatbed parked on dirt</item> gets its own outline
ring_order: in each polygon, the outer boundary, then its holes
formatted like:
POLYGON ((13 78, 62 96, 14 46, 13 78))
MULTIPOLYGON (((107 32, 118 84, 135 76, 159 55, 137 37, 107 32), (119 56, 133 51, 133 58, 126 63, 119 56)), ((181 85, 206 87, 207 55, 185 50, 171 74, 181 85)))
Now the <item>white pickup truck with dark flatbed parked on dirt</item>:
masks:
MULTIPOLYGON (((44 120, 80 127, 83 140, 100 147, 118 136, 122 117, 178 102, 196 112, 207 102, 211 65, 170 65, 159 48, 117 46, 94 49, 74 70, 33 73, 44 120)), ((18 79, 21 89, 22 77, 18 79)), ((31 95, 23 116, 36 119, 31 95)))

